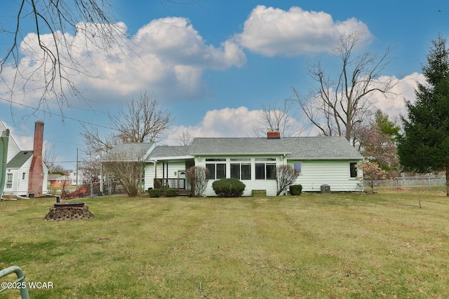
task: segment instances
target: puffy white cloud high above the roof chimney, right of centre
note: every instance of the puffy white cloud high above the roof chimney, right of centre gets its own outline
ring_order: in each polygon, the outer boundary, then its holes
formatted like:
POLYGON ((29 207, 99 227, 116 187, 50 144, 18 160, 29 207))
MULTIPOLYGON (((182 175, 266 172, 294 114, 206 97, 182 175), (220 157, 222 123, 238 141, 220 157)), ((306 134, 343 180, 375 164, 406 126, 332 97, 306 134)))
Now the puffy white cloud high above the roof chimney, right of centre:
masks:
POLYGON ((355 18, 334 21, 324 12, 303 11, 293 6, 288 11, 257 6, 235 39, 241 46, 266 56, 295 56, 304 53, 330 52, 340 36, 349 32, 365 32, 368 27, 355 18))

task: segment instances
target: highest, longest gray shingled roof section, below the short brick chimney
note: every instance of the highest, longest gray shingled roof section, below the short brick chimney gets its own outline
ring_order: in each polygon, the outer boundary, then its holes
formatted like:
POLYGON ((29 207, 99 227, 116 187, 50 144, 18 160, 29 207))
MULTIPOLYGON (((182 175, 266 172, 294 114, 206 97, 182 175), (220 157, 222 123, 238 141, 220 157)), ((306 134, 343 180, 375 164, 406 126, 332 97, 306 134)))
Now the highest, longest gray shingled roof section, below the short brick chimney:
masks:
POLYGON ((305 160, 360 160, 363 156, 344 137, 195 138, 192 155, 286 154, 305 160))

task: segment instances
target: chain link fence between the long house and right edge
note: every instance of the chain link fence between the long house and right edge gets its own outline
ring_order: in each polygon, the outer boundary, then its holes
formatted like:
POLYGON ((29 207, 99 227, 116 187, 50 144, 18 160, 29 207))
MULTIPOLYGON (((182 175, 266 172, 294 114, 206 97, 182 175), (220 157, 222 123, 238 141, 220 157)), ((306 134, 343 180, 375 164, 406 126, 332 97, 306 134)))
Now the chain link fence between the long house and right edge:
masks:
MULTIPOLYGON (((374 181, 374 190, 445 190, 445 176, 404 176, 387 181, 374 181)), ((370 181, 364 180, 363 187, 370 190, 370 181)))

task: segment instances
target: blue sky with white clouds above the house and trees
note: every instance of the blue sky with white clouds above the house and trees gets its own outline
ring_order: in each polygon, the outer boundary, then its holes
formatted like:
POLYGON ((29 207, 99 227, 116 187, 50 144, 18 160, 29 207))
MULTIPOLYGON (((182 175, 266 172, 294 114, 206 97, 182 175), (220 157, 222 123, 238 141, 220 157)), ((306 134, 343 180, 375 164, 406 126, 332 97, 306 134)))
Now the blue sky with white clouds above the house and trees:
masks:
MULTIPOLYGON (((83 147, 77 120, 107 125, 105 113, 138 98, 142 90, 154 92, 161 106, 173 112, 175 123, 164 144, 177 144, 177 134, 184 131, 196 137, 250 136, 260 105, 290 97, 292 86, 306 92, 312 83, 307 62, 330 59, 342 32, 354 29, 367 32, 363 50, 381 54, 395 48, 396 60, 384 76, 401 81, 398 96, 377 102, 395 118, 404 113, 403 99, 414 97, 415 82, 422 81, 421 64, 431 39, 449 34, 448 1, 192 2, 114 1, 116 20, 126 25, 140 57, 113 62, 95 53, 86 68, 97 78, 83 78, 81 88, 90 108, 69 97, 74 108, 63 109, 64 121, 56 106, 49 107, 55 114, 37 111, 25 117, 29 110, 15 104, 11 110, 0 101, 0 119, 21 148, 32 148, 34 121, 43 120, 46 148, 53 148, 62 166, 74 169, 69 161, 83 147)), ((9 1, 1 20, 17 9, 9 1)), ((1 57, 6 43, 0 33, 1 57)), ((0 98, 8 99, 1 86, 0 98)), ((35 101, 33 95, 14 98, 19 104, 35 101)), ((302 122, 298 109, 290 116, 302 122)))

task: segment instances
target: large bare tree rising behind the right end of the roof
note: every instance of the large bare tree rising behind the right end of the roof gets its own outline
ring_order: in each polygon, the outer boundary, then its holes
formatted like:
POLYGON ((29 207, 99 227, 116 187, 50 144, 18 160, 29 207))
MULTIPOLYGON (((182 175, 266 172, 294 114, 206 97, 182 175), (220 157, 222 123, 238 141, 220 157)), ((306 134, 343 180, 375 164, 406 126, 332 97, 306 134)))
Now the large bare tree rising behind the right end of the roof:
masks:
POLYGON ((354 127, 363 122, 373 107, 375 92, 386 94, 394 87, 393 78, 382 80, 382 71, 392 62, 391 49, 382 55, 356 53, 362 32, 352 32, 340 38, 335 56, 341 71, 332 76, 321 60, 309 65, 309 76, 316 88, 307 96, 293 88, 293 101, 304 115, 325 136, 354 137, 354 127))

